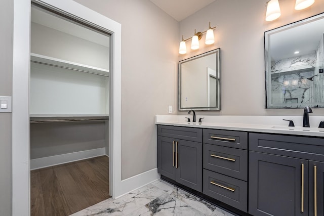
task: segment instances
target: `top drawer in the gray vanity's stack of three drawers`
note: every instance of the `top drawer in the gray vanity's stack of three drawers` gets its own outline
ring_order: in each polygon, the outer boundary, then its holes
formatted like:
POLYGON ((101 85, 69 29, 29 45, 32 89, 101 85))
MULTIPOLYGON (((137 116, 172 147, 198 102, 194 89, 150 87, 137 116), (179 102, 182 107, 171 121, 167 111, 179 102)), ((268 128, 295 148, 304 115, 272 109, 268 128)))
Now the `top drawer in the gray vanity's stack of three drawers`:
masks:
POLYGON ((248 133, 225 131, 221 129, 204 129, 204 143, 238 149, 248 149, 248 133))

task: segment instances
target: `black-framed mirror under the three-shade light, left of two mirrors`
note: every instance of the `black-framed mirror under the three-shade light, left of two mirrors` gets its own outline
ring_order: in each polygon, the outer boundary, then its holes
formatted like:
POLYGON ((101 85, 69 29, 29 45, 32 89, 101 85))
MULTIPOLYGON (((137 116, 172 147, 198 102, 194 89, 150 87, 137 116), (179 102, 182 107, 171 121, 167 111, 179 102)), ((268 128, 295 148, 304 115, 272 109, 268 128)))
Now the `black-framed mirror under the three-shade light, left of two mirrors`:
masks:
POLYGON ((179 110, 220 110, 220 48, 179 62, 179 110))

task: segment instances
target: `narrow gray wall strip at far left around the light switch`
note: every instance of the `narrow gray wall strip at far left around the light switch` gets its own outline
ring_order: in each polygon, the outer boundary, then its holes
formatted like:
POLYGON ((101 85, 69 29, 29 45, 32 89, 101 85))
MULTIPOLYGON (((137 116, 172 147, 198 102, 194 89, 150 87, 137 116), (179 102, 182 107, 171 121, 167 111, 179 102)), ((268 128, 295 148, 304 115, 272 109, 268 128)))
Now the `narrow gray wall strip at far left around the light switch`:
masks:
MULTIPOLYGON (((12 96, 13 8, 12 0, 0 7, 0 95, 12 96)), ((12 114, 0 113, 0 215, 11 215, 12 207, 12 114)))

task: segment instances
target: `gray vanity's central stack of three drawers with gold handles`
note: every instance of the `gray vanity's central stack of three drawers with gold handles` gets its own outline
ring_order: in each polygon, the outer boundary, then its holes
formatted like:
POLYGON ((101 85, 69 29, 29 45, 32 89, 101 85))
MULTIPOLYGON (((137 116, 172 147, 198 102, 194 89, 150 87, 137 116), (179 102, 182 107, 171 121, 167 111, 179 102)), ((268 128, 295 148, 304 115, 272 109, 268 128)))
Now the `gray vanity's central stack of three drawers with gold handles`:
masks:
POLYGON ((203 193, 247 212, 248 133, 204 129, 203 193))

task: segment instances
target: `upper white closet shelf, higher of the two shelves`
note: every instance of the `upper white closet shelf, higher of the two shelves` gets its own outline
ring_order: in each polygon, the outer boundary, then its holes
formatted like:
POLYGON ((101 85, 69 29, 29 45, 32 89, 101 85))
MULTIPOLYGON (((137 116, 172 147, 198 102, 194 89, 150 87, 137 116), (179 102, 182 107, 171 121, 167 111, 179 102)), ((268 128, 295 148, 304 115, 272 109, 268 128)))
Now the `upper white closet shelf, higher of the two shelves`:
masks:
POLYGON ((30 53, 30 61, 45 65, 50 65, 54 67, 62 67, 66 69, 76 70, 80 72, 93 73, 103 76, 109 76, 109 70, 93 67, 90 65, 79 64, 75 62, 70 62, 62 59, 57 59, 49 56, 43 56, 35 53, 30 53))

